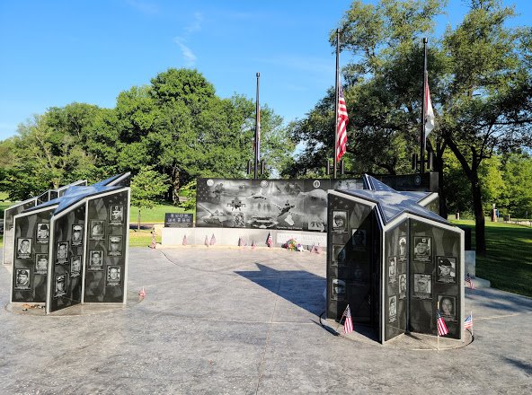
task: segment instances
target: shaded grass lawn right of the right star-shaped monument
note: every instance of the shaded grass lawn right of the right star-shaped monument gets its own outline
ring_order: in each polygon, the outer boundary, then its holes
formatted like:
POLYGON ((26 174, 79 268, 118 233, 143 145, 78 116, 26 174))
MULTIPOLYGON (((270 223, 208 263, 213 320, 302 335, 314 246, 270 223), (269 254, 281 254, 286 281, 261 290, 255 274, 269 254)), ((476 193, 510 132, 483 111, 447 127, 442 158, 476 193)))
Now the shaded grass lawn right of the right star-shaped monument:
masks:
MULTIPOLYGON (((474 221, 452 221, 472 228, 474 221)), ((486 222, 485 256, 476 256, 476 275, 490 280, 492 287, 532 297, 532 228, 486 222)))

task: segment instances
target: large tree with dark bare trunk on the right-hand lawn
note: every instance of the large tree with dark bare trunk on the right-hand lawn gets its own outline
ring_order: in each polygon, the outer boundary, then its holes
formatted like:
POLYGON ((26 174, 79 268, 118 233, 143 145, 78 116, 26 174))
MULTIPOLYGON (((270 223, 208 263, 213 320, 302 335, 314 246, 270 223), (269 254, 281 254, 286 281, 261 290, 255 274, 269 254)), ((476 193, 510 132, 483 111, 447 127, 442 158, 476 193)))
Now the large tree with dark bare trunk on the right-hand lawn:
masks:
POLYGON ((464 21, 445 33, 449 59, 441 96, 440 133, 471 188, 476 250, 486 250, 481 164, 497 152, 530 145, 530 29, 508 27, 513 8, 471 0, 464 21))

